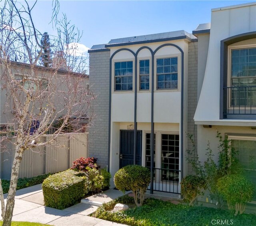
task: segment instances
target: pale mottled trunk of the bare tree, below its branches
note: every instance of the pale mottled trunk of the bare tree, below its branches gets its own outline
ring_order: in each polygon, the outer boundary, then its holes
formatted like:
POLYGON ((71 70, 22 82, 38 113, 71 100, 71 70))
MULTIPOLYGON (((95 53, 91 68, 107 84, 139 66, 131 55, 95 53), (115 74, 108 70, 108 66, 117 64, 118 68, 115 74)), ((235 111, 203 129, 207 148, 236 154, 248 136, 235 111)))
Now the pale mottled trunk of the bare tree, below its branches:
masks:
POLYGON ((18 175, 20 171, 20 163, 22 160, 23 152, 24 152, 23 149, 17 148, 14 155, 10 187, 9 187, 9 192, 8 192, 7 202, 6 202, 6 210, 3 218, 3 226, 10 226, 12 222, 12 214, 13 214, 14 202, 15 202, 14 198, 16 194, 18 175))

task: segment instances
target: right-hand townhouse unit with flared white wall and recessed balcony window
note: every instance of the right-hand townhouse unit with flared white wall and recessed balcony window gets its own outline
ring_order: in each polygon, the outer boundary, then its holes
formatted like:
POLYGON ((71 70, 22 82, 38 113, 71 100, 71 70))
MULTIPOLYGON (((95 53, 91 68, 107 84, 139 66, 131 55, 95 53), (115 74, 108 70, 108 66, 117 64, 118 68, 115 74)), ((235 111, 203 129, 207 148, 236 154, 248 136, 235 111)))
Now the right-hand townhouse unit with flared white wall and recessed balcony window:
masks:
MULTIPOLYGON (((193 34, 198 37, 194 121, 200 161, 207 158, 208 141, 212 149, 218 146, 216 130, 227 134, 256 186, 256 3, 212 9, 210 26, 193 34)), ((217 161, 218 149, 213 151, 217 161)))

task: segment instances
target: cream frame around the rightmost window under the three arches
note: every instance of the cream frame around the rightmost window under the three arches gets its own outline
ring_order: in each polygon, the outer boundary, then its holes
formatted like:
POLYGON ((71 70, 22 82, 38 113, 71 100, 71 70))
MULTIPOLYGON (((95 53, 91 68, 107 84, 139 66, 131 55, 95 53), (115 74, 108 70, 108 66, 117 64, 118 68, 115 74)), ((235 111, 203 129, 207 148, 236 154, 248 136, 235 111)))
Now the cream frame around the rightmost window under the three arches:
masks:
POLYGON ((168 55, 158 55, 154 57, 154 92, 177 92, 180 91, 180 84, 181 84, 181 54, 168 54, 168 55), (178 87, 177 89, 157 89, 157 59, 163 58, 178 58, 178 87))

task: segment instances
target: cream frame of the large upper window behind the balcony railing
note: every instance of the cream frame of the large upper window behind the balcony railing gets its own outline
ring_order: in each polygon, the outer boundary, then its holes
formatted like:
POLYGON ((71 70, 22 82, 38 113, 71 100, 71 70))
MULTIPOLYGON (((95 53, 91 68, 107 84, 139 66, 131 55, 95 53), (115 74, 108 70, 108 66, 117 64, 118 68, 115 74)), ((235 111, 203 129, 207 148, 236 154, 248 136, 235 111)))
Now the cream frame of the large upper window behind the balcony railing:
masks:
MULTIPOLYGON (((256 48, 256 44, 240 44, 240 45, 230 45, 228 46, 228 87, 231 87, 231 51, 232 50, 238 50, 238 49, 247 49, 247 48, 256 48)), ((231 106, 231 90, 228 91, 228 103, 227 103, 227 107, 228 109, 232 110, 238 110, 239 107, 232 107, 231 106)), ((242 106, 244 107, 244 106, 242 106)), ((250 107, 246 107, 246 109, 250 109, 250 107)), ((256 107, 252 107, 252 109, 256 109, 256 107)))

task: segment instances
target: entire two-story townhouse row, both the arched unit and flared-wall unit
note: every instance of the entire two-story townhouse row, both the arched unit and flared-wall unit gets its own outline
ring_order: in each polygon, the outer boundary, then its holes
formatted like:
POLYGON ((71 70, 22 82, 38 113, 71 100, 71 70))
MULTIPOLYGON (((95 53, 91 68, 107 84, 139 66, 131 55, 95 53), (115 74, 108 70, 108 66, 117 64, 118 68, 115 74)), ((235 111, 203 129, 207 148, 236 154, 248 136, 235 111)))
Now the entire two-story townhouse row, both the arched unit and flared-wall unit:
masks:
POLYGON ((256 157, 255 18, 256 3, 224 7, 212 10, 211 23, 192 34, 92 46, 90 84, 98 98, 89 155, 112 176, 129 164, 149 167, 151 192, 172 193, 180 193, 182 178, 192 172, 188 133, 202 161, 207 142, 218 145, 216 129, 240 149, 242 163, 256 157))

